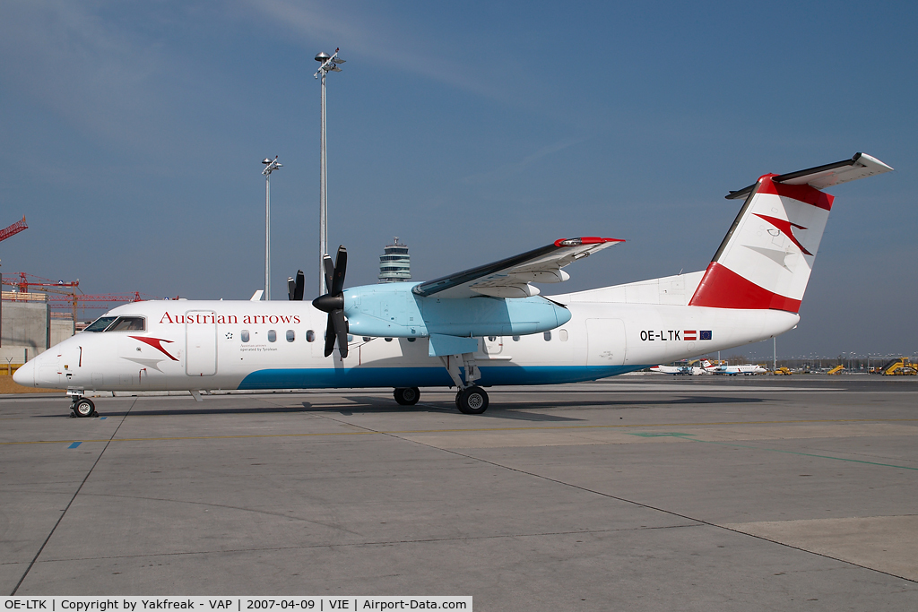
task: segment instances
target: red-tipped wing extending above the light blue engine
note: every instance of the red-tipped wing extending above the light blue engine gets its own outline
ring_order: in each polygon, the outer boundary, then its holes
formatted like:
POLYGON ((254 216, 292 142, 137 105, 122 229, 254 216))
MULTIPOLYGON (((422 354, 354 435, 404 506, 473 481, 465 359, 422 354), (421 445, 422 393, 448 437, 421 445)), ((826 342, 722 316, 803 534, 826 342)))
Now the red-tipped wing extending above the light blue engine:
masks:
POLYGON ((598 250, 624 240, 614 238, 558 239, 541 249, 486 263, 460 273, 415 285, 412 291, 423 297, 527 297, 538 295, 530 283, 561 283, 570 276, 561 269, 598 250))

